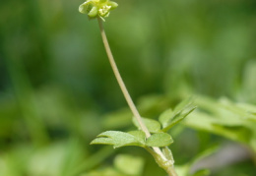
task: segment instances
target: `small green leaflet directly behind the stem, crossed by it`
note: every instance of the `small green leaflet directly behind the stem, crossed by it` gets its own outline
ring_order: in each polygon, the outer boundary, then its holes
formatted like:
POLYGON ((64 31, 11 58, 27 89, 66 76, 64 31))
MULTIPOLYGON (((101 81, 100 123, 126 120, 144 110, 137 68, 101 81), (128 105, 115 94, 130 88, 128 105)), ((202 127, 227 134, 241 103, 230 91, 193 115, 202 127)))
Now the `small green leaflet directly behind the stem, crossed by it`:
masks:
MULTIPOLYGON (((142 118, 142 120, 151 133, 160 133, 160 122, 159 121, 153 120, 153 119, 148 119, 148 118, 142 118)), ((139 129, 141 128, 138 121, 135 118, 133 118, 133 123, 139 129)))

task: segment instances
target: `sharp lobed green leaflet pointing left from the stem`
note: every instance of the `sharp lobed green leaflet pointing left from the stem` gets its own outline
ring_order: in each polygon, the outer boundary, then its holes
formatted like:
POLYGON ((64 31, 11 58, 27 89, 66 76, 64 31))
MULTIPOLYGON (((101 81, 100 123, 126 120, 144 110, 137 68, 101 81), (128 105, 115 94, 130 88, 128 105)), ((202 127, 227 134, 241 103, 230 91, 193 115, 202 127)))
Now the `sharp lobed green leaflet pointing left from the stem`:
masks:
POLYGON ((119 131, 106 131, 99 134, 97 137, 98 138, 96 138, 91 145, 113 145, 113 147, 145 146, 133 135, 119 131))

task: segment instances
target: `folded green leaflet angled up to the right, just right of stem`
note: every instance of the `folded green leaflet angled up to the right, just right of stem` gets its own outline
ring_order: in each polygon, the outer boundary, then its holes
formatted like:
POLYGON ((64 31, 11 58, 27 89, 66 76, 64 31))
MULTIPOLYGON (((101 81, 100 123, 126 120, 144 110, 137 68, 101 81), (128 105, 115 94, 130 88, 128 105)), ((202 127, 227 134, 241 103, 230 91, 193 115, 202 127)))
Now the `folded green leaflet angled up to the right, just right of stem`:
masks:
POLYGON ((167 109, 160 114, 160 123, 163 128, 162 131, 167 132, 171 127, 179 123, 195 109, 196 106, 192 104, 191 98, 181 101, 173 111, 171 109, 167 109))

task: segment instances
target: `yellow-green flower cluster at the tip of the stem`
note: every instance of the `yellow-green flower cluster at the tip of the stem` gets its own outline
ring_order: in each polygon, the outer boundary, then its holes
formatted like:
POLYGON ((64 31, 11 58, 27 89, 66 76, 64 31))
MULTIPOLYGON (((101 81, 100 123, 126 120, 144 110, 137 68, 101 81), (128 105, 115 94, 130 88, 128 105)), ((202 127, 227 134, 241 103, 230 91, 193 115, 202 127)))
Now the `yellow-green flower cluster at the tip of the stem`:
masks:
POLYGON ((79 6, 79 12, 87 14, 90 19, 99 17, 104 21, 104 18, 109 16, 110 11, 117 6, 117 3, 109 0, 87 0, 79 6))

